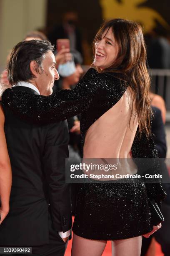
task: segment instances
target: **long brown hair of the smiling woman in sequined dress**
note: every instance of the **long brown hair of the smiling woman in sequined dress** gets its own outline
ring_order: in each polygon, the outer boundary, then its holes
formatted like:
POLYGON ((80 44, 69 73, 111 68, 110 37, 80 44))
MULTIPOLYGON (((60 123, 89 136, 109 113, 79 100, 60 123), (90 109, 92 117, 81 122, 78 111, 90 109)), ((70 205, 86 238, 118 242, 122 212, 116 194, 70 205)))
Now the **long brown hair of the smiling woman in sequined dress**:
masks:
MULTIPOLYGON (((150 114, 152 113, 149 89, 150 77, 146 67, 146 48, 141 26, 133 21, 114 19, 105 22, 97 32, 93 41, 93 54, 95 55, 95 42, 102 38, 104 33, 112 28, 112 32, 119 46, 117 59, 114 63, 98 72, 122 73, 128 85, 133 90, 133 102, 139 122, 140 135, 144 131, 150 134, 150 114)), ((133 114, 133 109, 131 117, 133 114)))

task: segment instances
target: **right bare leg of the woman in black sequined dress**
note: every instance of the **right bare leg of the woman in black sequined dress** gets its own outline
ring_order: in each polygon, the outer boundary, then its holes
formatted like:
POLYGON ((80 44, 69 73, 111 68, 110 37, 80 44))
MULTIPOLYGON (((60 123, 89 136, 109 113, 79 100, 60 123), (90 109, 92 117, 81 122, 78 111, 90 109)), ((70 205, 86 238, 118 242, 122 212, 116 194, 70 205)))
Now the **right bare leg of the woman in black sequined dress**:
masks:
POLYGON ((112 241, 112 256, 140 256, 142 236, 112 241))

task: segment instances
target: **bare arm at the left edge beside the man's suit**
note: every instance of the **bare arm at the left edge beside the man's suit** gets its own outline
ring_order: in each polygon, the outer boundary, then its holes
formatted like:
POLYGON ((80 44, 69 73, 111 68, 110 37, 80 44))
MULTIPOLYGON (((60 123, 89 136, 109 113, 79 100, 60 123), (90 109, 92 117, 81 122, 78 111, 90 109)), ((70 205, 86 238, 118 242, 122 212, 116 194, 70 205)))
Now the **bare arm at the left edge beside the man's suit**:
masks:
POLYGON ((4 133, 4 113, 0 105, 0 224, 9 212, 12 172, 4 133))

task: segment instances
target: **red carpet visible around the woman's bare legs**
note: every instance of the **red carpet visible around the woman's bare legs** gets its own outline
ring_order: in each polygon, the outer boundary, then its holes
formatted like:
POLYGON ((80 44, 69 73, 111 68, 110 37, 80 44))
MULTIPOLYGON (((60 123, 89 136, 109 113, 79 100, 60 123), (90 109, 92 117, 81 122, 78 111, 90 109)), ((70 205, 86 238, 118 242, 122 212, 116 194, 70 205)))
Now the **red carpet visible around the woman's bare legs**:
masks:
MULTIPOLYGON (((74 221, 74 218, 72 218, 72 222, 74 221)), ((68 242, 67 250, 65 252, 65 256, 70 256, 71 255, 71 245, 72 245, 72 240, 68 242)), ((111 256, 112 255, 112 250, 111 250, 111 242, 108 241, 105 251, 102 254, 102 256, 111 256)), ((156 243, 156 254, 154 256, 163 256, 164 254, 161 251, 160 245, 156 243)), ((148 255, 149 256, 149 255, 148 255)))

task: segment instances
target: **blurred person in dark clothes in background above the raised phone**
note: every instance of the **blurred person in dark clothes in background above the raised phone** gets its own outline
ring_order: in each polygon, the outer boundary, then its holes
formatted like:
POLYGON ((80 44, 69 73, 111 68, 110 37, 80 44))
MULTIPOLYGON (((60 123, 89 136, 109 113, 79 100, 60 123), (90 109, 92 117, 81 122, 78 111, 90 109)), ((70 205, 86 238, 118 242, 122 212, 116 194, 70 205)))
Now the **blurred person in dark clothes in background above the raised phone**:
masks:
POLYGON ((82 38, 79 29, 77 28, 78 17, 74 11, 67 11, 62 16, 62 24, 55 26, 48 38, 51 43, 56 45, 56 40, 60 38, 70 39, 70 49, 79 51, 82 56, 82 38))

